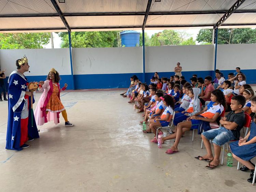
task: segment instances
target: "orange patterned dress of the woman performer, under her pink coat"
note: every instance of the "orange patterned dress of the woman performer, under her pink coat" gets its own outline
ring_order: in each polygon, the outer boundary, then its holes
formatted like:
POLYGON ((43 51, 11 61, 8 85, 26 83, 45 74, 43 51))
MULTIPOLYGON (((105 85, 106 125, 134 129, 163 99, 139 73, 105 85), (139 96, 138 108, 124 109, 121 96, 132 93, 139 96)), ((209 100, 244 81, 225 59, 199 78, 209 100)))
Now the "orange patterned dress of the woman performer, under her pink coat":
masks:
POLYGON ((53 84, 53 94, 51 95, 47 103, 46 111, 57 113, 65 110, 63 104, 61 103, 58 97, 58 92, 59 92, 58 87, 53 84))

